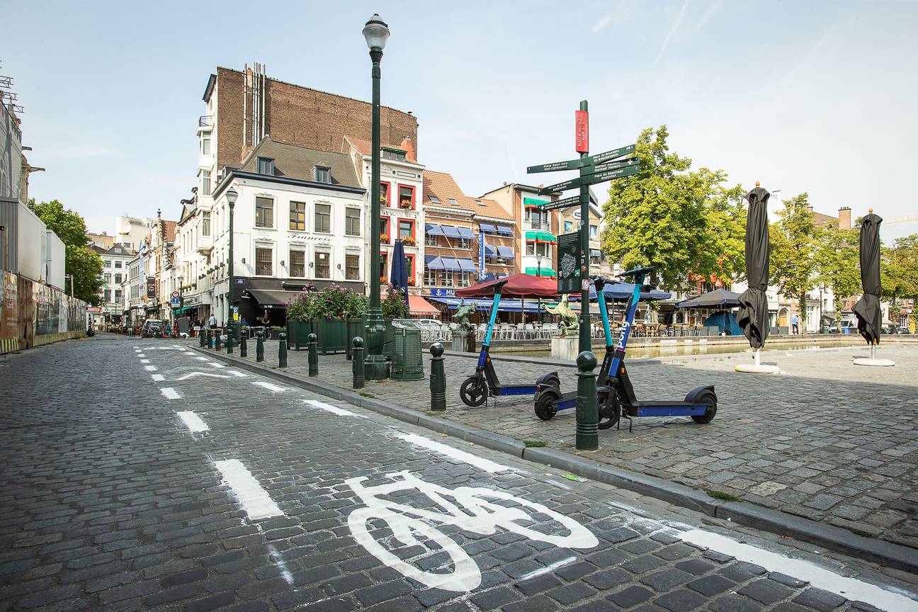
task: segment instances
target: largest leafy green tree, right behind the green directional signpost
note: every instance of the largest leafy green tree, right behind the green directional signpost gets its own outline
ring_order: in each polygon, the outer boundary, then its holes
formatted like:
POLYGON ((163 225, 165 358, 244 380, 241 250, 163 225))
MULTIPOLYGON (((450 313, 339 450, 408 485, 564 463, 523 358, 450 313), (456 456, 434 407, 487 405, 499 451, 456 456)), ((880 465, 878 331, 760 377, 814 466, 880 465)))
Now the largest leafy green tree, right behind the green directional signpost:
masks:
POLYGON ((668 287, 691 274, 730 276, 743 270, 743 191, 724 189, 720 170, 690 171, 669 152, 666 126, 644 129, 636 153, 641 172, 613 181, 603 206, 602 248, 626 268, 651 263, 668 287))

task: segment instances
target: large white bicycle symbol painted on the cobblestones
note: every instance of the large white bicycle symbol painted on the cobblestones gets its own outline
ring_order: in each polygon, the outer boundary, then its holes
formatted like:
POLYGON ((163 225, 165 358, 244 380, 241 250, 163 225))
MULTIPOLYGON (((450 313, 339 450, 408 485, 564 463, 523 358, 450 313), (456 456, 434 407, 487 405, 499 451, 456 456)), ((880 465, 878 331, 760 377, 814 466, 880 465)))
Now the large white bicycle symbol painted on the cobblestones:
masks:
POLYGON ((437 529, 437 525, 453 525, 480 535, 497 533, 499 527, 531 540, 565 548, 591 549, 599 545, 596 536, 573 518, 504 491, 476 486, 448 489, 438 484, 426 483, 408 471, 388 473, 386 477, 393 482, 364 487, 361 483, 367 480, 365 476, 344 481, 360 496, 366 506, 357 508, 350 514, 348 527, 354 539, 376 559, 427 586, 468 592, 481 584, 481 571, 477 563, 452 538, 437 529), (443 511, 439 511, 439 508, 408 506, 379 497, 412 489, 427 495, 443 511), (385 531, 377 531, 382 529, 375 527, 379 521, 391 530, 391 536, 385 535, 385 531), (533 529, 536 527, 545 531, 533 529), (374 531, 377 535, 374 535, 374 531), (398 545, 393 545, 392 540, 397 540, 406 547, 424 548, 426 552, 419 557, 445 552, 452 561, 452 572, 421 570, 410 562, 411 559, 403 560, 386 549, 386 544, 392 548, 399 548, 398 545), (439 549, 431 547, 431 542, 439 549))

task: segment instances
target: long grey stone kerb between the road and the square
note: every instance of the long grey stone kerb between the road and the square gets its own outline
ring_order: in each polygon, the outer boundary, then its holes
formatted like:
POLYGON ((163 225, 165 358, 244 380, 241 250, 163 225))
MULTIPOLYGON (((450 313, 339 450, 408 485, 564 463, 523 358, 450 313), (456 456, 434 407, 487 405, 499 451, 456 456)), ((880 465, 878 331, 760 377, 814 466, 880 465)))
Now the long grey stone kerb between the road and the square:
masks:
POLYGON ((509 438, 509 436, 473 428, 462 423, 455 423, 372 397, 364 397, 353 391, 341 389, 341 387, 320 383, 319 381, 280 371, 270 366, 258 365, 235 356, 211 350, 201 351, 198 347, 189 348, 201 355, 207 355, 221 362, 231 363, 243 370, 259 373, 287 384, 294 384, 319 395, 326 395, 354 406, 364 407, 411 425, 428 428, 459 440, 473 442, 492 451, 506 452, 526 461, 541 463, 603 484, 610 484, 627 491, 655 497, 675 506, 686 507, 711 517, 730 520, 739 525, 762 529, 781 536, 790 536, 795 540, 810 542, 832 551, 842 552, 865 561, 878 562, 905 572, 918 573, 918 550, 901 544, 865 538, 847 529, 826 525, 810 518, 797 517, 780 510, 756 506, 749 502, 718 500, 703 491, 692 489, 684 484, 673 483, 655 476, 628 472, 606 463, 590 461, 585 457, 572 455, 565 451, 537 447, 527 448, 520 440, 509 438))

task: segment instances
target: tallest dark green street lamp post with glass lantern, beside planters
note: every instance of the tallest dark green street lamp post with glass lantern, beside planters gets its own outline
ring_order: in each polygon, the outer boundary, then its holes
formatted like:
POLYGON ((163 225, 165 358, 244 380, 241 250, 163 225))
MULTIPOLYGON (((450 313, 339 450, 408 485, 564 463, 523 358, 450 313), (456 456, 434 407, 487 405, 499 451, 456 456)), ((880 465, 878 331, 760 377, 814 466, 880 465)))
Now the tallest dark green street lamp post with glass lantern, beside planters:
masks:
MULTIPOLYGON (((389 39, 389 28, 378 14, 370 17, 364 26, 364 39, 370 49, 370 60, 373 61, 373 162, 370 173, 370 307, 366 312, 366 357, 364 371, 372 381, 386 380, 386 358, 383 357, 383 342, 386 338, 386 326, 383 322, 383 309, 379 301, 379 80, 381 76, 379 63, 383 61, 383 48, 389 39)), ((231 218, 231 217, 230 217, 231 218)))

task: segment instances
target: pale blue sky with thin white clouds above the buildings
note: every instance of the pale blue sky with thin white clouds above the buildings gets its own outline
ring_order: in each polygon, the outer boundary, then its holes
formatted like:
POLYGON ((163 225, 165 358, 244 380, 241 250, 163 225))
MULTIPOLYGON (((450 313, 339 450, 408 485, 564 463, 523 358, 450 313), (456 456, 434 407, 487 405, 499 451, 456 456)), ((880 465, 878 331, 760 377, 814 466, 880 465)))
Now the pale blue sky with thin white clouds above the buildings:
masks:
MULTIPOLYGON (((671 150, 814 209, 918 217, 918 1, 14 2, 0 74, 14 78, 30 195, 91 231, 177 218, 196 181, 197 117, 216 66, 368 100, 361 30, 391 30, 382 102, 419 119, 419 161, 467 195, 569 173, 588 100, 593 152, 666 124, 671 150)), ((6 20, 6 19, 5 19, 6 20)), ((605 191, 599 185, 599 192, 605 191)), ((598 192, 598 193, 599 193, 598 192)), ((918 232, 889 224, 883 239, 918 232)))

